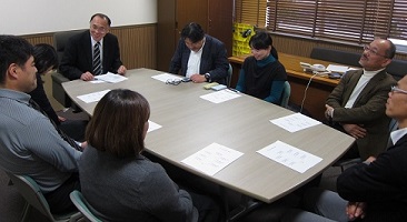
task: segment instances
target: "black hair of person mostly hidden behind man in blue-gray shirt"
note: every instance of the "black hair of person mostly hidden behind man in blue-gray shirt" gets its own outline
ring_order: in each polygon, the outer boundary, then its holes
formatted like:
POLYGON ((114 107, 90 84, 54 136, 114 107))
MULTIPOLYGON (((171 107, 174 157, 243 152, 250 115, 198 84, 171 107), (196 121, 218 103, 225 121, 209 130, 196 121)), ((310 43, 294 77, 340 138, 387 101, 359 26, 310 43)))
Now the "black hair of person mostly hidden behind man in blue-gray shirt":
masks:
POLYGON ((33 57, 37 72, 43 74, 48 69, 57 69, 59 65, 57 51, 52 46, 40 43, 33 47, 33 57))

